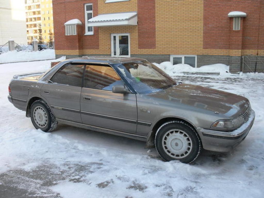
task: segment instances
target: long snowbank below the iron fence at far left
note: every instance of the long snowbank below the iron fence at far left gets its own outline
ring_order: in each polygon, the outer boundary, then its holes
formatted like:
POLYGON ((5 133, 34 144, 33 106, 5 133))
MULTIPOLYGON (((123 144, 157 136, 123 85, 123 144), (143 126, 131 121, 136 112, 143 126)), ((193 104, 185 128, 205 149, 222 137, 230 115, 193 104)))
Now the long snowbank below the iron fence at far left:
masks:
POLYGON ((48 49, 43 51, 9 51, 0 54, 0 63, 25 62, 32 60, 55 59, 55 50, 48 49))

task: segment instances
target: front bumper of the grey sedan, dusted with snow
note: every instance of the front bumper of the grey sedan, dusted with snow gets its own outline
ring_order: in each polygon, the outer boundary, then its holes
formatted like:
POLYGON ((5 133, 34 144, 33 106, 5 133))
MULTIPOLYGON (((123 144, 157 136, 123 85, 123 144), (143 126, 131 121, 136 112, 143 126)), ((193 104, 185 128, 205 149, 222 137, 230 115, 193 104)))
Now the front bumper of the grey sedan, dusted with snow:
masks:
POLYGON ((251 110, 247 122, 234 131, 225 132, 198 128, 204 149, 216 152, 229 152, 246 138, 254 123, 254 119, 255 112, 251 110))

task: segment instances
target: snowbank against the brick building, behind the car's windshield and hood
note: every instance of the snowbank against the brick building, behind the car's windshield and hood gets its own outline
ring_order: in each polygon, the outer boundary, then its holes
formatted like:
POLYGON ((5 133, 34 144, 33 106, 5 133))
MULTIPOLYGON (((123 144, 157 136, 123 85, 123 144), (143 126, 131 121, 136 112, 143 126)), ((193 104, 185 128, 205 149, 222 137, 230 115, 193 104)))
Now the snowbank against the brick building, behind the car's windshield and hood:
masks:
POLYGON ((229 74, 229 66, 225 64, 213 64, 213 65, 204 65, 199 68, 191 67, 187 64, 176 64, 173 65, 171 62, 163 62, 161 64, 153 63, 164 72, 169 74, 170 76, 177 76, 184 72, 188 73, 197 73, 197 72, 209 72, 209 73, 219 73, 221 76, 230 75, 229 74))

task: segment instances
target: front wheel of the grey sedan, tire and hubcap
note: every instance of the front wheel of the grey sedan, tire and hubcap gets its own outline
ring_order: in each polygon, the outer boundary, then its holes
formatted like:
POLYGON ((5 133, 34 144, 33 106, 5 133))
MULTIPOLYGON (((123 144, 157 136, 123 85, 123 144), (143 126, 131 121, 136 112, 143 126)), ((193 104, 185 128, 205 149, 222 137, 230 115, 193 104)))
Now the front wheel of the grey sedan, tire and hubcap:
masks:
POLYGON ((157 130, 155 147, 165 161, 191 163, 201 152, 201 140, 191 125, 183 121, 170 121, 157 130))

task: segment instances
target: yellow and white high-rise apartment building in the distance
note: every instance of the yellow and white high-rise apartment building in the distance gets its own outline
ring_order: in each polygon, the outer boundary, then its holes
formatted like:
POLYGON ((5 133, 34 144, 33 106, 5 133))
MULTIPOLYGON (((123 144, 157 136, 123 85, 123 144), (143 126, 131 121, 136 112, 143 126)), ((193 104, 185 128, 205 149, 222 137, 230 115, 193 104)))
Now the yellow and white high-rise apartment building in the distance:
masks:
POLYGON ((52 0, 25 0, 27 41, 39 39, 48 43, 50 32, 53 33, 52 0))

